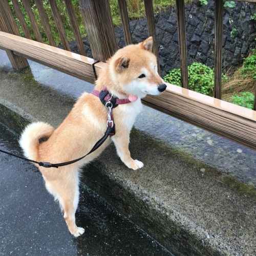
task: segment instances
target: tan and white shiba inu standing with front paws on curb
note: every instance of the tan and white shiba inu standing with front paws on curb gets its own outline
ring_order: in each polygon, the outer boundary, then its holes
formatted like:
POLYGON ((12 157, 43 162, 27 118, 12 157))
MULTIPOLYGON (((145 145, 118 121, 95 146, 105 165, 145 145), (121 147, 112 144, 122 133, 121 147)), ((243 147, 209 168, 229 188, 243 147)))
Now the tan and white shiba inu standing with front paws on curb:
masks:
POLYGON ((109 113, 97 92, 107 90, 110 100, 117 98, 120 102, 124 101, 112 110, 115 135, 108 137, 92 154, 58 169, 36 164, 47 190, 59 202, 69 231, 75 237, 84 232, 75 223, 80 167, 97 157, 111 141, 127 167, 134 170, 143 167, 142 162, 131 157, 130 131, 142 108, 140 99, 146 94, 159 95, 166 89, 157 72, 157 60, 152 53, 152 46, 153 39, 148 37, 138 45, 118 50, 101 71, 95 85, 96 93, 83 93, 56 130, 47 123, 35 122, 28 125, 20 137, 19 144, 24 155, 34 161, 61 163, 79 158, 91 150, 106 130, 109 113))

